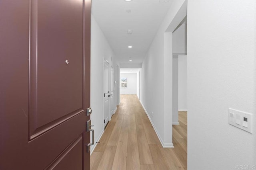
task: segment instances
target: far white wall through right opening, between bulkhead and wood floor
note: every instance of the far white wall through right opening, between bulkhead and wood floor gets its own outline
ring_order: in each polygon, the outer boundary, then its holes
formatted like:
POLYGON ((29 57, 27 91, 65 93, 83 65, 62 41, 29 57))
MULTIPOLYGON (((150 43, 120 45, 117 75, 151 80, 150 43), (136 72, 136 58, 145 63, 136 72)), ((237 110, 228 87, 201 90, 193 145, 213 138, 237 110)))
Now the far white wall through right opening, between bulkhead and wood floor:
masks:
POLYGON ((178 55, 178 110, 188 109, 187 55, 178 55))

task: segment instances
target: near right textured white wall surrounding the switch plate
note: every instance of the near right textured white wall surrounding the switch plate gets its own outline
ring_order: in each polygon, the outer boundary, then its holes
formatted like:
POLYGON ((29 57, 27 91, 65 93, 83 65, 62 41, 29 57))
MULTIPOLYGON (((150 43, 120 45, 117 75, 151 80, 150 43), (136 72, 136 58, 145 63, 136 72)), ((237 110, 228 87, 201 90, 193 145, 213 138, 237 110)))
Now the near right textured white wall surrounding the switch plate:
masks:
POLYGON ((188 169, 240 165, 256 168, 256 1, 188 1, 188 169), (253 134, 229 107, 253 114, 253 134))

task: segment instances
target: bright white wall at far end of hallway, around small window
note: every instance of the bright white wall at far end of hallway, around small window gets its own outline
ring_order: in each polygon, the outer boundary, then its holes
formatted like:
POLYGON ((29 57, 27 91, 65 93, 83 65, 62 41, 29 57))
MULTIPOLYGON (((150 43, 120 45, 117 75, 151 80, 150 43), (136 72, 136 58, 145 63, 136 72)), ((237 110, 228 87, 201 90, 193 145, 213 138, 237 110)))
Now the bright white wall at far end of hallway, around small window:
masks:
POLYGON ((137 73, 120 73, 120 94, 137 94, 137 73), (127 78, 127 88, 121 87, 121 78, 127 78))

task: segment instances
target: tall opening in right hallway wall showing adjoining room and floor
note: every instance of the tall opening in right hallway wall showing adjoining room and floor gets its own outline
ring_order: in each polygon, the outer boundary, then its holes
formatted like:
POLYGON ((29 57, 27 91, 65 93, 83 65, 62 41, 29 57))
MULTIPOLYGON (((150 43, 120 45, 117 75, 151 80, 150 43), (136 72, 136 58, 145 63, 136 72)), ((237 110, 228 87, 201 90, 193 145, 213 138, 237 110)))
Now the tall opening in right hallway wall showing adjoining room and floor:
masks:
POLYGON ((172 141, 187 153, 187 17, 172 32, 172 141))

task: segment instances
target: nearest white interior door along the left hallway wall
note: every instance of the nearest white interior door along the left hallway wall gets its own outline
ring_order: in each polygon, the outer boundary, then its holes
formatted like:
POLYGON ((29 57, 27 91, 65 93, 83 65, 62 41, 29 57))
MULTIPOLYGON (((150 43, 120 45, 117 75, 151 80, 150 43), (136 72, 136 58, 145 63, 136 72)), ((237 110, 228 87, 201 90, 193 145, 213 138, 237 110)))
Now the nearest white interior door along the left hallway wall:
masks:
POLYGON ((110 91, 109 91, 109 64, 104 61, 104 127, 107 125, 110 115, 110 91))

